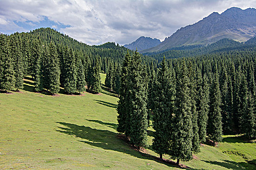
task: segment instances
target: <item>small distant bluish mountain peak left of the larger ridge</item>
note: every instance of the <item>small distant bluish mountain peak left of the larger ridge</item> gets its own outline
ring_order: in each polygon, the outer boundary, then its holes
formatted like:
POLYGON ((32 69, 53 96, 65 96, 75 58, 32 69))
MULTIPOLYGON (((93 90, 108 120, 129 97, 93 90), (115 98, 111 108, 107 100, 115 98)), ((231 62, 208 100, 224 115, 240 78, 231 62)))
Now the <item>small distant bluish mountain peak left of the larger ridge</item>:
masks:
POLYGON ((161 41, 159 39, 152 39, 150 37, 145 37, 145 36, 141 36, 138 39, 136 39, 136 41, 130 43, 130 44, 126 44, 124 45, 124 47, 130 49, 130 50, 137 50, 138 51, 142 51, 145 49, 149 49, 151 47, 155 47, 157 45, 159 45, 161 43, 161 41))

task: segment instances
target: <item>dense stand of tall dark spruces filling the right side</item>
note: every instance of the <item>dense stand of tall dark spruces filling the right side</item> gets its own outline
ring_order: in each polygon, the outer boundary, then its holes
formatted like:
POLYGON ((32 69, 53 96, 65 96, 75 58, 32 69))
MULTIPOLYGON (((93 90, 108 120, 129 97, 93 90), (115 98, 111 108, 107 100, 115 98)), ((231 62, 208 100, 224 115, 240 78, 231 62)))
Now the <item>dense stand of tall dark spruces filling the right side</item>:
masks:
POLYGON ((223 134, 256 137, 256 51, 215 52, 145 66, 127 53, 121 70, 118 132, 136 147, 147 147, 149 113, 152 148, 189 161, 199 144, 223 134))

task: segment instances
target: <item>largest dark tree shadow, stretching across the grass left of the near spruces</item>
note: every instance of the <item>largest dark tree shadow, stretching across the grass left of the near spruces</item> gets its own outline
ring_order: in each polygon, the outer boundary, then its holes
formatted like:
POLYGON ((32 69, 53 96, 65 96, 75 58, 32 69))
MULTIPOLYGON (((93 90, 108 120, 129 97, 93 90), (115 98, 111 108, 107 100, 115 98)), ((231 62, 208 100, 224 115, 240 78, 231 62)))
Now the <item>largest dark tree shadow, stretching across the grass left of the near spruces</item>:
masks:
POLYGON ((173 165, 174 162, 162 161, 162 160, 159 160, 159 158, 153 155, 150 155, 148 153, 142 153, 137 150, 134 150, 134 148, 129 146, 128 143, 124 139, 122 139, 122 137, 120 137, 122 135, 118 135, 117 133, 114 133, 108 130, 93 129, 87 126, 79 126, 76 124, 66 123, 66 122, 56 122, 56 123, 66 126, 66 127, 58 127, 61 130, 56 130, 56 131, 67 134, 67 135, 79 137, 80 139, 78 141, 86 143, 88 145, 99 147, 105 150, 126 153, 140 159, 153 160, 158 163, 165 164, 169 167, 176 167, 175 165, 173 165))

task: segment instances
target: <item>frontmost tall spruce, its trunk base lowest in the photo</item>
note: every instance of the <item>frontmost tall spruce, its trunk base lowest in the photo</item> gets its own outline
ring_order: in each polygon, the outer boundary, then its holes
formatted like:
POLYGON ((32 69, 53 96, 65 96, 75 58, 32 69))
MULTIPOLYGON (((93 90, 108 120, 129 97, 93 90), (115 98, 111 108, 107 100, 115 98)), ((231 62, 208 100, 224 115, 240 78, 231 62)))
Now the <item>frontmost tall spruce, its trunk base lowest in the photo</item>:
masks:
POLYGON ((188 69, 185 61, 178 68, 176 83, 176 100, 174 110, 174 121, 172 128, 171 152, 173 159, 189 161, 192 159, 192 113, 191 97, 188 88, 188 69))

